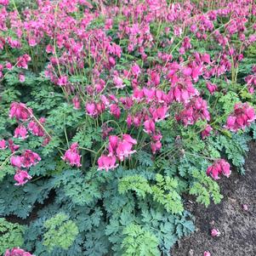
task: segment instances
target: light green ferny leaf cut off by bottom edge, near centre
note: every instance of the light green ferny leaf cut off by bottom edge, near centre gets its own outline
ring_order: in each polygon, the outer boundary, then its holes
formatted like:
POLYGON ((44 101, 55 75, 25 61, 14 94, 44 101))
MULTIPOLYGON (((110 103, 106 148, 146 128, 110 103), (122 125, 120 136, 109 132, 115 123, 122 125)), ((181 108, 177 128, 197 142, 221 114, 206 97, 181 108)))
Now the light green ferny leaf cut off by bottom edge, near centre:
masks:
POLYGON ((124 253, 122 256, 157 256, 161 255, 158 250, 156 236, 139 225, 130 224, 123 230, 125 238, 122 241, 124 253))

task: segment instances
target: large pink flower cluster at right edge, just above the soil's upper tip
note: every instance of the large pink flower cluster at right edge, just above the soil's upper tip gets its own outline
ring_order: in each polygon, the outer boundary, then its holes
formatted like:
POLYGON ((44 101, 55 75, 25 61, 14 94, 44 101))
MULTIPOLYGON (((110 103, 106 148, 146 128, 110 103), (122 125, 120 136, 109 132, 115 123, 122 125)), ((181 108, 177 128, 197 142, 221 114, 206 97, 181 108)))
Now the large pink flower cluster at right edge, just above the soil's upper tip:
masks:
POLYGON ((239 129, 244 129, 256 119, 253 107, 247 103, 237 103, 234 106, 233 113, 227 118, 225 128, 232 132, 237 132, 239 129))

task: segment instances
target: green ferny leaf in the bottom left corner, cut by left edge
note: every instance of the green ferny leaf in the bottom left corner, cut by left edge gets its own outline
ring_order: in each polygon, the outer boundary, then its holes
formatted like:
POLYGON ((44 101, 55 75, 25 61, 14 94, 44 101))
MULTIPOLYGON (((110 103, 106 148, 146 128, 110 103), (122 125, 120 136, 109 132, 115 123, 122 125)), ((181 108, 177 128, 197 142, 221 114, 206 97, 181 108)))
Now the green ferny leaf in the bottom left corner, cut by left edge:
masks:
POLYGON ((0 218, 0 253, 4 253, 9 248, 21 247, 24 243, 25 230, 23 225, 13 224, 0 218))

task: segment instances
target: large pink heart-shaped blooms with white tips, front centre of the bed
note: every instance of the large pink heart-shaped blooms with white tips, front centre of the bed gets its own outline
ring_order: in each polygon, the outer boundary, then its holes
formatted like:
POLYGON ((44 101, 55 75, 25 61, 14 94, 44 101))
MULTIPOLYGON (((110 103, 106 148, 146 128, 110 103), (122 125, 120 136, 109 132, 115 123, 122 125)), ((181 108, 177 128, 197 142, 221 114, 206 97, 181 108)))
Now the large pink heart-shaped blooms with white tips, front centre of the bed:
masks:
POLYGON ((117 168, 117 160, 122 162, 136 152, 133 150, 133 146, 136 144, 136 139, 133 139, 129 134, 122 134, 122 139, 117 135, 109 136, 108 154, 100 156, 98 169, 108 171, 117 168))

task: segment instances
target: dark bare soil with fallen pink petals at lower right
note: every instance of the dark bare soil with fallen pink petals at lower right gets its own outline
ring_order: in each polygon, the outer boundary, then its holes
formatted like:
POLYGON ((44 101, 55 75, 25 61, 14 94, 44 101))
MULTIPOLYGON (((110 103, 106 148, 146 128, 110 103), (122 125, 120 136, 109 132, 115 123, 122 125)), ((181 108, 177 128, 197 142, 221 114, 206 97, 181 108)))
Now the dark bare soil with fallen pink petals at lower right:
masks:
POLYGON ((246 174, 235 170, 230 178, 219 179, 223 201, 208 208, 187 199, 196 217, 196 232, 176 244, 172 256, 256 256, 256 143, 250 145, 246 174), (247 204, 247 210, 242 205, 247 204), (212 228, 220 231, 212 237, 212 228))

